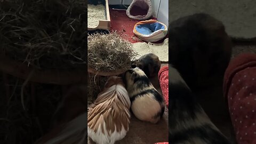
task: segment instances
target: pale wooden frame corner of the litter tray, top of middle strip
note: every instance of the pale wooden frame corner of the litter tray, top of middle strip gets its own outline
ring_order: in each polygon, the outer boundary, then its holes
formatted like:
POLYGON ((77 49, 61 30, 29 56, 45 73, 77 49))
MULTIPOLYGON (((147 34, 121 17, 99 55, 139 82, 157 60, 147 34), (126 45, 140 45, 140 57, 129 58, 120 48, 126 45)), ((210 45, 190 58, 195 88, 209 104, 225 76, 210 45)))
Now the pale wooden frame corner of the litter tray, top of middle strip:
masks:
POLYGON ((107 20, 100 20, 98 27, 95 28, 87 28, 88 30, 96 30, 96 29, 106 29, 109 30, 111 27, 110 23, 110 14, 109 14, 109 6, 108 6, 108 0, 106 1, 106 15, 107 15, 107 20))

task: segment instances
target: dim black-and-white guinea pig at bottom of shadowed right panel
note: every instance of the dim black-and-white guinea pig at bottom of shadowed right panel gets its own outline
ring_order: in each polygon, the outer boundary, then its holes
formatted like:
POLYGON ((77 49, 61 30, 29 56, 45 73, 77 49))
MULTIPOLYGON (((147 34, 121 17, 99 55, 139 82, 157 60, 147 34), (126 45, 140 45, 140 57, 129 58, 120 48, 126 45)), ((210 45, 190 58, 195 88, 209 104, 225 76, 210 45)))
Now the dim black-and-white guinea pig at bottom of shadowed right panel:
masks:
POLYGON ((169 68, 169 143, 230 143, 205 114, 177 69, 169 68))

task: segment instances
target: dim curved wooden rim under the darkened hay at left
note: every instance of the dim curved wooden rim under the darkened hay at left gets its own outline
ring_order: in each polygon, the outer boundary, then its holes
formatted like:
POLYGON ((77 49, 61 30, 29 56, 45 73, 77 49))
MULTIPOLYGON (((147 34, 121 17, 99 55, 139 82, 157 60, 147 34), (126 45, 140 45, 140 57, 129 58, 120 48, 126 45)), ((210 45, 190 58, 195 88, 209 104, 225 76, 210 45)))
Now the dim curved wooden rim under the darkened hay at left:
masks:
MULTIPOLYGON (((86 67, 86 66, 85 66, 86 67)), ((15 77, 27 79, 32 70, 30 82, 67 85, 87 83, 87 69, 37 69, 0 55, 0 70, 15 77)))

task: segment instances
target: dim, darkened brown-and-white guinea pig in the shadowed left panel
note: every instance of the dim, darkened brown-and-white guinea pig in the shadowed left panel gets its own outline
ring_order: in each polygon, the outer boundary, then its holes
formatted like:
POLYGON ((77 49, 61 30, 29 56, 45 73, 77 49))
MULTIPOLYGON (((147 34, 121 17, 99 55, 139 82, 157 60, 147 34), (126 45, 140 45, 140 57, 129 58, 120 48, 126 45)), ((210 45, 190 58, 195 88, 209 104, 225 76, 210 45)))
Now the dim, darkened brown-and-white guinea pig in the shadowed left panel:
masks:
POLYGON ((72 86, 53 116, 52 129, 36 144, 71 144, 87 141, 87 86, 72 86))

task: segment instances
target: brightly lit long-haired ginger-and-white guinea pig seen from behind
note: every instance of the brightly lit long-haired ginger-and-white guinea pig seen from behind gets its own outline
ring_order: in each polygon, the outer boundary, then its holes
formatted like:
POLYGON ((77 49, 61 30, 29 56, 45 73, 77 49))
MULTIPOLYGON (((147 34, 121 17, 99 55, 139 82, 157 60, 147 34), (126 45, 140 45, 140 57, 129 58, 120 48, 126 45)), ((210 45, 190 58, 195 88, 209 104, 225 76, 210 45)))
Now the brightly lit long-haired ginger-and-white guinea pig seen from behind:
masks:
POLYGON ((99 144, 114 144, 129 131, 129 95, 121 77, 109 77, 88 112, 88 136, 99 144))

